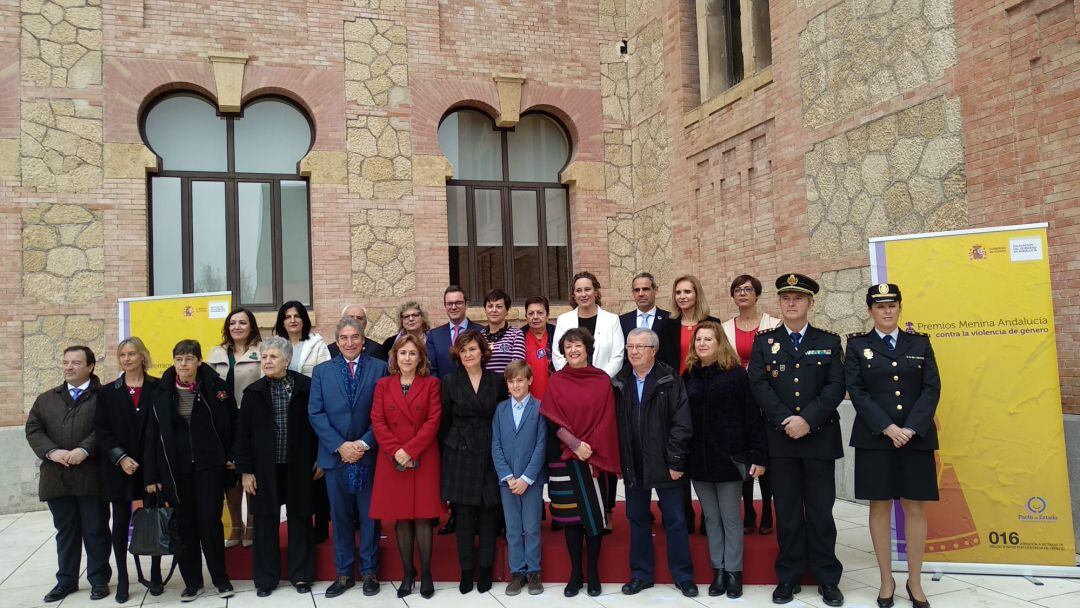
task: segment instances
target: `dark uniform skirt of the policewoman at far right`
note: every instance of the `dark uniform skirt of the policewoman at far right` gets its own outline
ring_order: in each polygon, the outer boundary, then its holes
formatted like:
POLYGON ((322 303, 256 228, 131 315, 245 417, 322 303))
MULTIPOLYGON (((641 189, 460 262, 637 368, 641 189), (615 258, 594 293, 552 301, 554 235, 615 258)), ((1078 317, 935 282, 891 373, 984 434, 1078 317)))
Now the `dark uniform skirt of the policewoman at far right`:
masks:
POLYGON ((856 447, 855 498, 937 500, 933 450, 856 447))

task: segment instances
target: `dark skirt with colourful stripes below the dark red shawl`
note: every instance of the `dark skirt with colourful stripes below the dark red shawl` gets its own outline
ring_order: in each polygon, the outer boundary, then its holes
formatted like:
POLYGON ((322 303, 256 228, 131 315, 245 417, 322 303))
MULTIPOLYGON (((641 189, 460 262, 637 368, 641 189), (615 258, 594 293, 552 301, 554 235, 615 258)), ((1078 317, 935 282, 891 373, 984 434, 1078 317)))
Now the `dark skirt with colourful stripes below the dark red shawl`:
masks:
POLYGON ((548 462, 548 496, 553 522, 584 526, 591 537, 605 533, 599 485, 589 464, 577 459, 548 462))

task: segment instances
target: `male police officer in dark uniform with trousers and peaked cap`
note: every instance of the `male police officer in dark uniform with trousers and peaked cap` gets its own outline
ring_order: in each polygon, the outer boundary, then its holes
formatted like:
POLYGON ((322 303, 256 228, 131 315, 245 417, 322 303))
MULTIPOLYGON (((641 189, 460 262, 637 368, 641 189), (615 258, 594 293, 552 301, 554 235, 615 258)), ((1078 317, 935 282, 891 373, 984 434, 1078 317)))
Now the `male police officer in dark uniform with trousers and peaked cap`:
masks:
POLYGON ((807 321, 818 291, 802 274, 777 279, 783 323, 754 338, 746 371, 765 416, 773 475, 780 554, 772 602, 791 602, 809 565, 824 603, 841 606, 833 503, 836 459, 843 456, 836 411, 845 393, 843 351, 839 336, 807 321))

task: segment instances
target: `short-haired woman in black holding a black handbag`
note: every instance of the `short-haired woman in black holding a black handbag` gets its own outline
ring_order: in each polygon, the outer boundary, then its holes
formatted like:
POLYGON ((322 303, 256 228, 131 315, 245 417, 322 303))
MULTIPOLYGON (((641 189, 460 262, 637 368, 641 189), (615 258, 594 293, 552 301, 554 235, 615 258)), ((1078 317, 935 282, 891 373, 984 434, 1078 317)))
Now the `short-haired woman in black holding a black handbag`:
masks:
POLYGON ((218 597, 234 594, 225 571, 221 503, 232 460, 237 402, 229 384, 202 362, 195 340, 173 347, 173 366, 161 375, 150 402, 144 456, 146 491, 163 491, 176 509, 184 578, 181 602, 202 594, 202 556, 218 597))

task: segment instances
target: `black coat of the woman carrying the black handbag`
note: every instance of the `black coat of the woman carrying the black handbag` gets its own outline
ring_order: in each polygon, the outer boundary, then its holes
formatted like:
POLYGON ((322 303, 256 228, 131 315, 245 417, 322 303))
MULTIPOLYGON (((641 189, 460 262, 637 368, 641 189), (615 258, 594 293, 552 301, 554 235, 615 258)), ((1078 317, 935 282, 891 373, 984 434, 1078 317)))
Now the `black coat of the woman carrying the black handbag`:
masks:
POLYGON ((158 390, 148 404, 151 410, 146 425, 143 482, 146 485, 161 484, 166 500, 174 502, 178 502, 177 473, 225 467, 226 462, 233 460, 237 401, 232 391, 205 363, 199 366, 195 382, 198 393, 190 421, 185 421, 177 410, 179 396, 176 394, 174 367, 161 375, 158 390))

